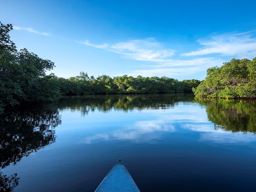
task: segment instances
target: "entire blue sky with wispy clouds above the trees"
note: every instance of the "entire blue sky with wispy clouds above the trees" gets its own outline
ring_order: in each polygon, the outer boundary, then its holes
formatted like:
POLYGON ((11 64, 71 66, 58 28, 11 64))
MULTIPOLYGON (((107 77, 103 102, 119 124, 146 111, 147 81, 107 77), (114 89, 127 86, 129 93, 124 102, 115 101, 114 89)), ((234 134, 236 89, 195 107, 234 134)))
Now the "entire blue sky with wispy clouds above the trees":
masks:
POLYGON ((102 74, 203 80, 232 58, 256 57, 255 0, 2 0, 18 49, 58 77, 102 74))

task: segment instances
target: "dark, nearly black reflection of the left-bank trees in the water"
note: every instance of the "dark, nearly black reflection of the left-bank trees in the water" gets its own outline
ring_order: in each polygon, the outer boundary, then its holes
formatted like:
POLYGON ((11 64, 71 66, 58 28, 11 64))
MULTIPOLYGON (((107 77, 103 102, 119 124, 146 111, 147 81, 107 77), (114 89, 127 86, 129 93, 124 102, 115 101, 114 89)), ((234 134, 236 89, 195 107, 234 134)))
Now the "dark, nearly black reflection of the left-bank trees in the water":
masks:
MULTIPOLYGON (((58 108, 35 107, 17 110, 0 117, 0 168, 16 164, 22 157, 56 141, 55 127, 61 124, 58 108)), ((17 174, 0 172, 0 191, 18 185, 17 174)))

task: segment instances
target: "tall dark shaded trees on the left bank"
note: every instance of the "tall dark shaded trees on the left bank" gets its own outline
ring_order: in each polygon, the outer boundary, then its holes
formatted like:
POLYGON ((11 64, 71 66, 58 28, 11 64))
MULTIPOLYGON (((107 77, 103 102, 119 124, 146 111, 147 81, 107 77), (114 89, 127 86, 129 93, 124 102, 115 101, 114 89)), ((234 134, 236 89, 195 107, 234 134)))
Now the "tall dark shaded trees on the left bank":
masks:
POLYGON ((0 114, 8 106, 48 102, 59 96, 56 77, 46 75, 54 63, 25 48, 17 51, 8 34, 12 25, 0 25, 0 114))

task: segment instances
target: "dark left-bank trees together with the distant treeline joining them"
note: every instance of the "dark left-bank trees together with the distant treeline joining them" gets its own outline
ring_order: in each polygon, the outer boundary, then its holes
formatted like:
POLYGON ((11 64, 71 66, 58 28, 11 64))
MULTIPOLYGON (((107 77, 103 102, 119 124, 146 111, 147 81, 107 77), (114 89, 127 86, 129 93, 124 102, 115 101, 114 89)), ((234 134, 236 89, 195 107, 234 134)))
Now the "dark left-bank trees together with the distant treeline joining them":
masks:
POLYGON ((9 106, 51 102, 63 95, 181 93, 192 92, 192 88, 200 84, 199 80, 178 81, 165 76, 94 78, 80 72, 76 77, 65 79, 47 75, 54 63, 26 48, 18 51, 10 40, 11 30, 11 24, 0 22, 0 114, 9 106))

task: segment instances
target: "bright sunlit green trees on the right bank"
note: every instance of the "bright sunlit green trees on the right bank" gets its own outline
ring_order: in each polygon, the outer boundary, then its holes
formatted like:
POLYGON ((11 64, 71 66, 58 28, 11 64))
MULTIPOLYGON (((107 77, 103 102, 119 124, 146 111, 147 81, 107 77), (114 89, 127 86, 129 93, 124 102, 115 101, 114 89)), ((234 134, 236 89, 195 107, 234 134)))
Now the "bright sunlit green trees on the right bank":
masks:
POLYGON ((209 68, 205 80, 193 92, 208 98, 253 98, 255 85, 256 58, 252 61, 232 59, 220 68, 209 68))

